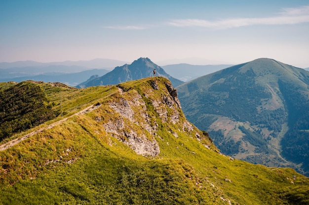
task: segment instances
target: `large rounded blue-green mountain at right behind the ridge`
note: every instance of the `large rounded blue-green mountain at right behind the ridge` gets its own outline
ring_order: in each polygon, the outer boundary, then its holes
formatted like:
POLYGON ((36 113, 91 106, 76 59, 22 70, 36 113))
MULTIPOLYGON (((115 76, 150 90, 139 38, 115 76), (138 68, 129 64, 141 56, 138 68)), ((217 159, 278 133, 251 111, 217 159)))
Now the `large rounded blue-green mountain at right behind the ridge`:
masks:
POLYGON ((257 59, 177 87, 184 113, 220 150, 309 175, 309 72, 257 59))

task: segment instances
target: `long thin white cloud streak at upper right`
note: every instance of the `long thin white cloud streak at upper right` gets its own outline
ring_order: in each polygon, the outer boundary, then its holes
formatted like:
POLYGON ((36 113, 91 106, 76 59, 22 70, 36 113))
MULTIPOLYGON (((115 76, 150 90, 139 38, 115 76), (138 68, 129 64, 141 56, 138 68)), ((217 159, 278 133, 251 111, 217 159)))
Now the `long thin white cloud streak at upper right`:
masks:
POLYGON ((253 25, 287 25, 309 23, 309 6, 285 8, 278 16, 267 18, 235 18, 219 21, 201 19, 178 19, 168 22, 175 27, 204 27, 211 29, 228 29, 253 25))

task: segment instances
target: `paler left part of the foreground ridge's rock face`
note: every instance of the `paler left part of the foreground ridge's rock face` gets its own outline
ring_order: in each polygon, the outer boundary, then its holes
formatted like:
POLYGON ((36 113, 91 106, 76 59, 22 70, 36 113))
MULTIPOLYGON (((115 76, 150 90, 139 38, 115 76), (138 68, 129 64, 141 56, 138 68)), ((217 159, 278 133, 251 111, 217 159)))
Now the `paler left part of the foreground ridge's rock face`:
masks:
POLYGON ((153 136, 156 131, 156 124, 151 125, 151 119, 146 112, 146 103, 140 94, 136 93, 132 96, 132 100, 122 97, 119 102, 110 103, 110 107, 120 117, 103 124, 106 132, 113 134, 116 139, 131 147, 137 154, 154 157, 160 153, 157 142, 154 139, 150 140, 146 136, 146 134, 153 136), (128 123, 126 119, 133 124, 128 123), (144 131, 148 133, 135 131, 132 129, 134 124, 143 127, 144 131))

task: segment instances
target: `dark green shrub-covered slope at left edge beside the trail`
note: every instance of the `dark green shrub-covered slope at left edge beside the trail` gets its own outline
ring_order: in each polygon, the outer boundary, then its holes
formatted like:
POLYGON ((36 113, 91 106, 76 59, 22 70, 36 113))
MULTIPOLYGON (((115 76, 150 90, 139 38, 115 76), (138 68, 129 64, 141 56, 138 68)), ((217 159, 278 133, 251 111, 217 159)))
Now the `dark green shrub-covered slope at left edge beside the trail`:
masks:
POLYGON ((53 119, 51 108, 39 85, 22 82, 0 89, 0 141, 53 119))

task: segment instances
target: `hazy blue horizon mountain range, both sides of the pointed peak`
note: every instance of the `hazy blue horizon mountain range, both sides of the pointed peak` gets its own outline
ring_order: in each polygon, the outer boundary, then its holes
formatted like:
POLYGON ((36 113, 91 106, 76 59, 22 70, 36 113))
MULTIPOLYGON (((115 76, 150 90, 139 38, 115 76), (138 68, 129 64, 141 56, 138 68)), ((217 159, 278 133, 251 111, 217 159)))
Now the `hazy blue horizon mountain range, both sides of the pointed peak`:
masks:
MULTIPOLYGON (((103 76, 116 66, 123 65, 125 63, 127 62, 113 59, 93 59, 48 63, 41 63, 31 60, 0 62, 0 81, 21 82, 26 80, 34 80, 43 82, 61 82, 68 86, 77 86, 81 83, 88 83, 95 77, 103 76)), ((166 71, 166 73, 170 76, 187 82, 229 66, 231 65, 191 65, 181 63, 165 65, 161 66, 161 68, 163 68, 164 72, 166 71)))

